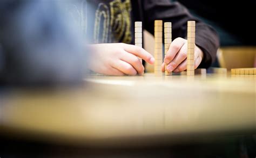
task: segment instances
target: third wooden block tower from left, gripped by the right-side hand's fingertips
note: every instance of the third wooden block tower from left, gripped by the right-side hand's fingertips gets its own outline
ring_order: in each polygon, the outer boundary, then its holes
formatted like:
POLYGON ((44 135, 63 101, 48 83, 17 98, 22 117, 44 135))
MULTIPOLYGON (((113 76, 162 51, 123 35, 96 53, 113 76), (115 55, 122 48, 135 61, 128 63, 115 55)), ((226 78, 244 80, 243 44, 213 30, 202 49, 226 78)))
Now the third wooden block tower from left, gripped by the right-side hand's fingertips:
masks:
MULTIPOLYGON (((164 23, 164 55, 166 55, 167 51, 169 50, 169 47, 172 42, 172 23, 167 22, 164 23)), ((166 69, 167 64, 165 64, 164 72, 166 76, 172 75, 169 71, 166 69)))

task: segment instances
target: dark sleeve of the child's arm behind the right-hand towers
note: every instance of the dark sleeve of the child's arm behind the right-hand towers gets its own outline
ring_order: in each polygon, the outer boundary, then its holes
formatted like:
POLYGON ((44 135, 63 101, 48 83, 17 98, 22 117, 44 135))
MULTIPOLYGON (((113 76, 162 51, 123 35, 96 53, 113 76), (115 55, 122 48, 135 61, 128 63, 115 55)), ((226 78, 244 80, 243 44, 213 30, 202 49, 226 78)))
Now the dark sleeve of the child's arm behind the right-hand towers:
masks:
POLYGON ((178 2, 170 0, 143 0, 144 27, 150 33, 154 33, 154 20, 172 22, 172 39, 186 38, 187 21, 196 21, 196 45, 204 52, 204 59, 200 68, 208 68, 215 61, 219 38, 214 29, 191 16, 188 10, 178 2))

